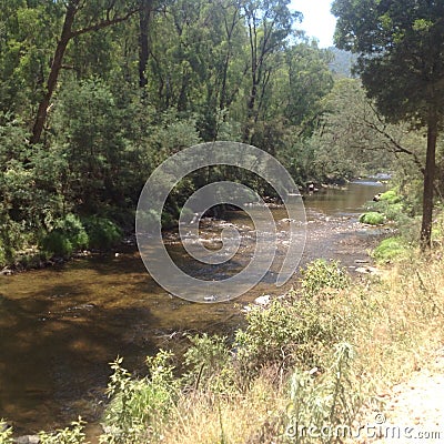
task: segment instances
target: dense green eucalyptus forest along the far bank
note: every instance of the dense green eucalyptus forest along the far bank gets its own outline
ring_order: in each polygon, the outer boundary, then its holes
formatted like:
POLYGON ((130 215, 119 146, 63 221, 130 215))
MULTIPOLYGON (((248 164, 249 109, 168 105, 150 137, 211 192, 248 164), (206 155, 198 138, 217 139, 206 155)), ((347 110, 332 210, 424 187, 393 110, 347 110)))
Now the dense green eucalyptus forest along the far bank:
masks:
POLYGON ((286 0, 3 1, 0 264, 109 248, 153 169, 199 142, 253 144, 302 188, 390 169, 397 134, 301 21, 286 0))

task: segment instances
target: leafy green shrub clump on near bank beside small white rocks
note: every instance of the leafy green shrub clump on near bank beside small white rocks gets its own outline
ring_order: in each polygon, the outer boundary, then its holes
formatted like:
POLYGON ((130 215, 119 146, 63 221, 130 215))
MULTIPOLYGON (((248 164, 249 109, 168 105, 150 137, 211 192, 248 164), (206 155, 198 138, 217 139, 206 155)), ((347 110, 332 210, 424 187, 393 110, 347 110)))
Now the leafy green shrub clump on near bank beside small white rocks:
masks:
POLYGON ((252 307, 248 326, 236 332, 238 360, 246 372, 278 362, 282 367, 323 365, 324 349, 337 339, 346 320, 324 306, 324 300, 346 289, 350 278, 337 262, 316 260, 303 271, 301 295, 252 307))

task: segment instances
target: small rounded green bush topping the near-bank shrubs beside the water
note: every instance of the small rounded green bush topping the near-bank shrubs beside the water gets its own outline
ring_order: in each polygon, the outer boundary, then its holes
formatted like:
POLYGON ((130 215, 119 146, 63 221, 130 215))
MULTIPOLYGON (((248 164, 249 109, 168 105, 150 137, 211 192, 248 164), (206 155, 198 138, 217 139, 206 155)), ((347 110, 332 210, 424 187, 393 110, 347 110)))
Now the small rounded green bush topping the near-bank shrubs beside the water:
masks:
POLYGON ((316 296, 321 292, 344 290, 350 285, 350 276, 337 261, 317 259, 309 263, 301 274, 301 287, 307 297, 316 296))

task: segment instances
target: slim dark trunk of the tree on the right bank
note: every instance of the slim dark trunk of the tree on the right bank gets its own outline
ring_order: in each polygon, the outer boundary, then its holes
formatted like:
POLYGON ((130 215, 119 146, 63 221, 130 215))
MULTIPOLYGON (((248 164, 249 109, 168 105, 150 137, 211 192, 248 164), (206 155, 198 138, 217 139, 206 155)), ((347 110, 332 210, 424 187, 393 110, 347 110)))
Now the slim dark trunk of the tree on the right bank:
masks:
POLYGON ((421 225, 421 250, 432 245, 433 190, 435 180, 435 153, 437 139, 437 112, 433 108, 428 112, 427 153, 424 170, 423 219, 421 225))

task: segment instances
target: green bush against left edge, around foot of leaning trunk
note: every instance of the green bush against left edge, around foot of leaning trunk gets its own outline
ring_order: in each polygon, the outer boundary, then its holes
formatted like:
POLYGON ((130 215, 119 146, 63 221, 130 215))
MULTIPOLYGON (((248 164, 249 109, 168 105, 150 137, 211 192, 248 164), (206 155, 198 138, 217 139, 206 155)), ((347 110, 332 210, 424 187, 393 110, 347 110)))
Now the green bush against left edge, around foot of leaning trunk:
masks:
POLYGON ((61 214, 63 159, 57 150, 28 147, 22 122, 0 113, 0 250, 14 263, 23 249, 36 245, 38 234, 61 214))

